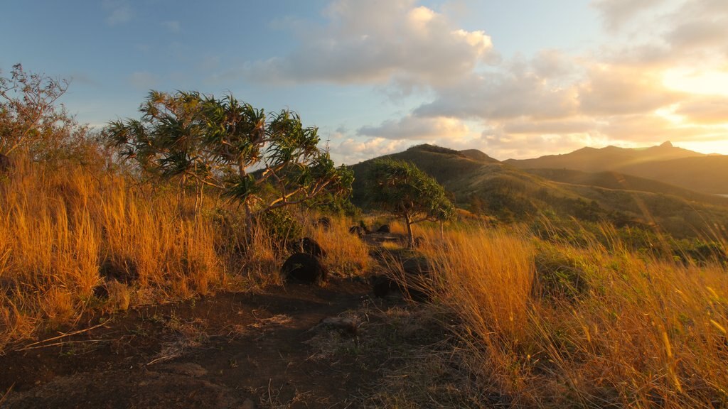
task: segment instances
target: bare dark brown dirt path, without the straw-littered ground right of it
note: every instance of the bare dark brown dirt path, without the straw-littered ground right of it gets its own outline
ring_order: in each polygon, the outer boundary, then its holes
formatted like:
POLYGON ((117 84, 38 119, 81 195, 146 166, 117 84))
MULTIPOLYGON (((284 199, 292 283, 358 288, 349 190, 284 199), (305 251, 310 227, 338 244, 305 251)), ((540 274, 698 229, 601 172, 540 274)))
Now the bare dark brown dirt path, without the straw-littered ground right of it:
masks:
POLYGON ((382 302, 369 293, 361 280, 333 279, 115 314, 1 356, 1 406, 356 408, 374 374, 356 337, 319 323, 367 319, 382 302))

